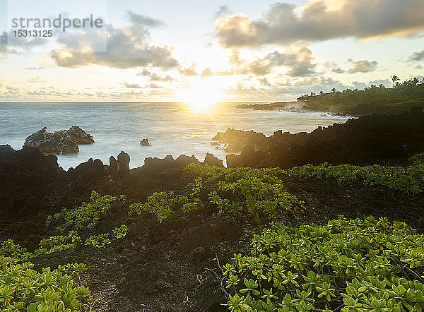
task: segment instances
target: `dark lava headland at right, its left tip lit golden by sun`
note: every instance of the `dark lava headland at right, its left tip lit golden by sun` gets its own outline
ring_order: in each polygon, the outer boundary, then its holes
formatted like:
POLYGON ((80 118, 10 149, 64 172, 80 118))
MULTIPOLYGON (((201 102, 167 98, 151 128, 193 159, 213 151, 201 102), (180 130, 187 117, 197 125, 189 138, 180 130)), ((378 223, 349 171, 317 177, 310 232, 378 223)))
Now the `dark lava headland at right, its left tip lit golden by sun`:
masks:
POLYGON ((213 144, 226 146, 228 167, 281 167, 302 164, 402 163, 424 150, 423 107, 401 114, 372 114, 345 124, 318 127, 312 133, 276 131, 266 137, 254 131, 228 129, 213 144))

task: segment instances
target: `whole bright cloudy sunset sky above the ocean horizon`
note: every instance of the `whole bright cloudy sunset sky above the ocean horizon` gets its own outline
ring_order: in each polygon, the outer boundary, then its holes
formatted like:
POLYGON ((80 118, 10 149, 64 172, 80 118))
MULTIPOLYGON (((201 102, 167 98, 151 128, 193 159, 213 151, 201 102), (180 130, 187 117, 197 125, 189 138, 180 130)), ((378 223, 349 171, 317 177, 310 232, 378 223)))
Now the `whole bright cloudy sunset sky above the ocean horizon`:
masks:
POLYGON ((423 77, 424 0, 0 0, 0 101, 278 102, 423 77), (13 28, 13 18, 101 28, 13 28), (16 37, 16 30, 52 37, 16 37), (6 39, 7 38, 7 39, 6 39))

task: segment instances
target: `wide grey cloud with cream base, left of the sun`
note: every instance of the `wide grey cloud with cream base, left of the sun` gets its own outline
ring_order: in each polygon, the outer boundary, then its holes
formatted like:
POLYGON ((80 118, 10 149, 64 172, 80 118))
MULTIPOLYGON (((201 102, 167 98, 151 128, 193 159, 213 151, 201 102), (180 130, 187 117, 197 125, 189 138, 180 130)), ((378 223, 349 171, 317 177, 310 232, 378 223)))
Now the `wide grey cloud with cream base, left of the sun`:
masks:
POLYGON ((61 48, 52 51, 52 59, 62 67, 177 67, 178 61, 172 57, 168 47, 157 47, 149 43, 149 28, 159 25, 160 22, 131 12, 127 12, 127 16, 131 23, 124 29, 107 25, 102 32, 61 35, 58 38, 61 48), (93 52, 95 44, 102 40, 106 40, 106 52, 93 52))

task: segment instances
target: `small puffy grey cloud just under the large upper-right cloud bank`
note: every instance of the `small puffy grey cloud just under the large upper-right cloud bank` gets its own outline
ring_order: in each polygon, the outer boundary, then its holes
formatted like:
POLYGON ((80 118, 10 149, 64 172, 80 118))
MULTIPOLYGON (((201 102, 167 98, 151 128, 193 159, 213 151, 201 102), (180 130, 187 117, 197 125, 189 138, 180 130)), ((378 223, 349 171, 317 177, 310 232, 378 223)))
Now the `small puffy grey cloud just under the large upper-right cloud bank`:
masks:
POLYGON ((305 46, 289 47, 285 52, 275 51, 266 56, 273 66, 286 66, 290 68, 289 76, 302 77, 315 73, 314 56, 312 51, 305 46))

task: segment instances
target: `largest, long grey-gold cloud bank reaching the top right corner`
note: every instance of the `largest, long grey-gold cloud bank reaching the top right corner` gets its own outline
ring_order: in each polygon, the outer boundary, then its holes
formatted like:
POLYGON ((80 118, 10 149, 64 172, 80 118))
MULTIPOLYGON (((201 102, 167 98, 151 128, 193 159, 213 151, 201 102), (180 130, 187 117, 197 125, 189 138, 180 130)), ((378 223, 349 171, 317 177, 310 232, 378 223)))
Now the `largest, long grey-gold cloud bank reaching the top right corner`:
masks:
POLYGON ((424 0, 340 0, 337 4, 310 0, 298 8, 278 3, 260 20, 245 13, 220 17, 215 32, 224 47, 249 47, 346 37, 405 37, 424 29, 424 0))

